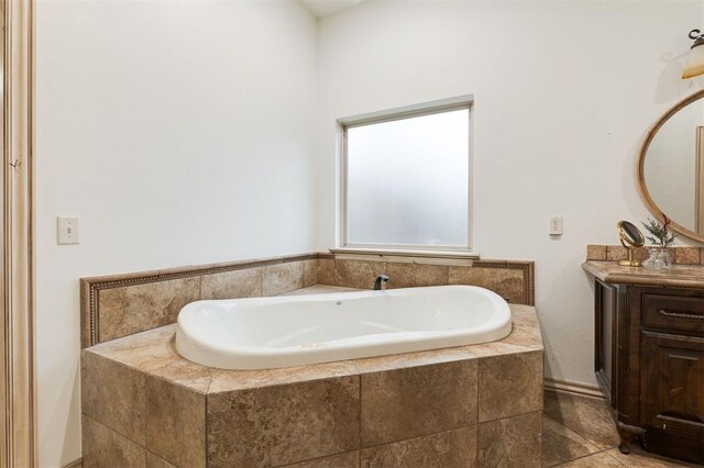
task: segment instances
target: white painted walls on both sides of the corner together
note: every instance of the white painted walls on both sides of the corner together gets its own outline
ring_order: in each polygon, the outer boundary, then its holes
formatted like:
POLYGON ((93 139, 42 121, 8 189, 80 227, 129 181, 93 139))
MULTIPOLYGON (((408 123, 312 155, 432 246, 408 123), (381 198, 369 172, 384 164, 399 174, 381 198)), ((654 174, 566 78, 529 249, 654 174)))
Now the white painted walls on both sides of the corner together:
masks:
POLYGON ((584 245, 647 216, 638 146, 703 86, 680 80, 701 1, 378 1, 317 41, 294 1, 36 13, 43 467, 80 456, 78 278, 330 247, 336 119, 453 96, 476 98, 475 247, 537 261, 548 374, 593 382, 584 245), (57 214, 80 245, 55 244, 57 214))

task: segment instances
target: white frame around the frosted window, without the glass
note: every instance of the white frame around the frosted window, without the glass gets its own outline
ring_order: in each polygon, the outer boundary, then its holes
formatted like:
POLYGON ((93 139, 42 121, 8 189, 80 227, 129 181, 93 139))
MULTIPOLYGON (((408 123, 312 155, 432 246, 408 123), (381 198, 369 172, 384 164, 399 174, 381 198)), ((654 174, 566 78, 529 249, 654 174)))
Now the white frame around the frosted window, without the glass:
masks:
POLYGON ((443 99, 440 101, 426 102, 408 105, 404 108, 389 109, 362 115, 339 119, 337 121, 338 131, 338 155, 339 155, 339 189, 337 210, 337 250, 366 252, 366 253, 397 253, 397 254, 437 254, 443 253, 451 256, 479 257, 473 250, 473 118, 474 98, 472 94, 457 98, 443 99), (466 109, 469 111, 469 142, 468 142, 468 238, 466 245, 424 245, 424 244, 383 244, 383 243, 350 243, 349 241, 349 210, 348 210, 348 130, 359 126, 373 125, 384 122, 432 115, 450 111, 466 109))

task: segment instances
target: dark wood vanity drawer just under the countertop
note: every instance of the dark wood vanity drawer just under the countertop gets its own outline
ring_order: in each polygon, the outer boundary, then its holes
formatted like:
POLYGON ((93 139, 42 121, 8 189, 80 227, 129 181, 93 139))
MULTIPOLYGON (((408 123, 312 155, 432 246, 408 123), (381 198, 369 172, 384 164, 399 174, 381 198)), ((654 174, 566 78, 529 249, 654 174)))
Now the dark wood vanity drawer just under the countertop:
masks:
POLYGON ((642 324, 704 334, 704 298, 644 294, 642 324))

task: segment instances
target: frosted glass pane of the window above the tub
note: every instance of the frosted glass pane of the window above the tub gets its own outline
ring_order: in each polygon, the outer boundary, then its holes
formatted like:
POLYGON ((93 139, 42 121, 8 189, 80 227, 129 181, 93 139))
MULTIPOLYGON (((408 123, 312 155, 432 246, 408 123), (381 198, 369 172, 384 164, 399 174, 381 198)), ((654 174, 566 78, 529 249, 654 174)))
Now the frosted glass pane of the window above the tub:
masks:
POLYGON ((345 132, 348 245, 469 247, 469 108, 345 132))

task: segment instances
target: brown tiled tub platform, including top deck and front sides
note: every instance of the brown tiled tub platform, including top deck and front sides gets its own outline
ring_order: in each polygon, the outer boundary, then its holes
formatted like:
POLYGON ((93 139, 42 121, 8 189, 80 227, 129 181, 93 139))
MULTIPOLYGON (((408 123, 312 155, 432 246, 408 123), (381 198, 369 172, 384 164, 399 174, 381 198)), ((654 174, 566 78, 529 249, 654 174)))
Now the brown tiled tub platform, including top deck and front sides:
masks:
POLYGON ((510 308, 498 342, 296 368, 187 361, 175 325, 92 346, 85 466, 539 467, 542 338, 532 307, 510 308))

